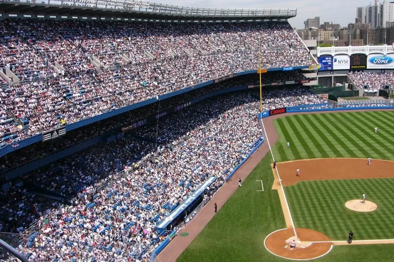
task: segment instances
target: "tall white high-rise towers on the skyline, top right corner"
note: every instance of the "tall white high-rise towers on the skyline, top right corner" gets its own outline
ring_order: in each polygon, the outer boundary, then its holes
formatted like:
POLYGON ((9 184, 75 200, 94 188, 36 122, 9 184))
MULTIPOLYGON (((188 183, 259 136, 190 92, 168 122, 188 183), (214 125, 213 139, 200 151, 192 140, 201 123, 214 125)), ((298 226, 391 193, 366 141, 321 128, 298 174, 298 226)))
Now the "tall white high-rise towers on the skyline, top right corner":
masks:
POLYGON ((370 23, 372 28, 385 28, 389 22, 394 22, 394 2, 375 0, 375 4, 356 7, 358 21, 370 23))

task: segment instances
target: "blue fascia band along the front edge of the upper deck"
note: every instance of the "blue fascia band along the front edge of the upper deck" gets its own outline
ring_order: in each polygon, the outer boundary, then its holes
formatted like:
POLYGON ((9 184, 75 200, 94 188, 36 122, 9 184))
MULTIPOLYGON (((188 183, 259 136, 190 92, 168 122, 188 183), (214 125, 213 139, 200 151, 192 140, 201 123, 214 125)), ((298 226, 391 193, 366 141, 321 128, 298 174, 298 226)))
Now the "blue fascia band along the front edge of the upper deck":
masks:
MULTIPOLYGON (((271 71, 293 71, 293 70, 303 69, 303 68, 308 68, 308 67, 309 66, 268 68, 267 72, 271 72, 271 71)), ((73 129, 77 129, 77 128, 83 127, 85 125, 93 124, 95 122, 104 120, 106 118, 110 118, 112 116, 116 116, 118 114, 122 114, 122 113, 128 112, 128 111, 133 110, 133 109, 137 109, 139 107, 143 107, 143 106, 152 104, 152 103, 154 103, 154 102, 156 102, 158 100, 163 100, 163 99, 167 99, 167 98, 173 97, 175 95, 180 95, 180 94, 183 94, 183 93, 186 93, 186 92, 190 92, 191 90, 194 90, 194 89, 197 89, 197 88, 201 88, 203 86, 207 86, 208 84, 218 83, 218 82, 221 82, 223 80, 230 79, 232 77, 237 77, 237 76, 240 76, 240 75, 255 74, 255 73, 257 73, 257 70, 249 70, 249 71, 234 73, 234 74, 229 75, 229 76, 220 77, 219 79, 210 80, 210 81, 207 81, 207 82, 204 82, 204 83, 201 83, 201 84, 197 84, 195 86, 191 86, 191 87, 188 87, 188 88, 184 88, 184 89, 181 89, 181 90, 178 90, 178 91, 175 91, 175 92, 171 92, 171 93, 168 93, 168 94, 165 94, 165 95, 160 95, 160 96, 158 96, 158 98, 153 97, 151 99, 148 99, 148 100, 145 100, 145 101, 141 101, 141 102, 135 103, 133 105, 128 105, 126 107, 115 109, 115 110, 106 112, 104 114, 100 114, 98 116, 93 116, 91 118, 87 118, 85 120, 81 120, 79 122, 66 125, 66 132, 71 131, 73 129)), ((26 138, 24 140, 17 141, 14 144, 9 144, 9 145, 3 146, 2 148, 0 148, 0 157, 2 157, 3 155, 6 155, 7 153, 10 153, 10 152, 13 152, 15 150, 18 150, 18 149, 20 149, 22 147, 29 146, 31 144, 39 142, 41 140, 42 140, 42 135, 38 134, 38 135, 35 135, 33 137, 29 137, 29 138, 26 138), (18 144, 18 146, 14 146, 16 144, 18 144)), ((0 144, 0 146, 1 145, 2 144, 0 144)))

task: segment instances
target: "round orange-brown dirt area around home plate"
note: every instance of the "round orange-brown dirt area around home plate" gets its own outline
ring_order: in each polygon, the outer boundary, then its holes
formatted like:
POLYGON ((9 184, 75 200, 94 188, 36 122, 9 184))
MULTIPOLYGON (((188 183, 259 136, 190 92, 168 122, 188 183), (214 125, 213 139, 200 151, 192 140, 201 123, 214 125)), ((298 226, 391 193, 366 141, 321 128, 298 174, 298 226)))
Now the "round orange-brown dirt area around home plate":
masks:
POLYGON ((326 255, 333 248, 332 243, 311 243, 314 241, 331 241, 324 234, 307 229, 296 228, 297 238, 292 228, 284 228, 269 234, 264 240, 264 246, 273 255, 290 260, 312 260, 326 255), (290 248, 292 240, 296 248, 290 248))

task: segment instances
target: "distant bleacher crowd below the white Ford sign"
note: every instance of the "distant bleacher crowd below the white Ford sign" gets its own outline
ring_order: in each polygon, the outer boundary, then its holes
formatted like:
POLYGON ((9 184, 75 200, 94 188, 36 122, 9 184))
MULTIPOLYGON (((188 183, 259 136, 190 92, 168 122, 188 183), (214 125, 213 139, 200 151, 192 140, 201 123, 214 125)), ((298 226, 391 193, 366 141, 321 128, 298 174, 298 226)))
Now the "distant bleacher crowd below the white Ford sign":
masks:
MULTIPOLYGON (((394 85, 394 73, 366 73, 366 72, 355 72, 349 73, 349 78, 353 83, 361 89, 364 89, 364 84, 368 84, 370 89, 384 88, 385 85, 394 85)), ((365 88, 367 89, 367 88, 365 88)))

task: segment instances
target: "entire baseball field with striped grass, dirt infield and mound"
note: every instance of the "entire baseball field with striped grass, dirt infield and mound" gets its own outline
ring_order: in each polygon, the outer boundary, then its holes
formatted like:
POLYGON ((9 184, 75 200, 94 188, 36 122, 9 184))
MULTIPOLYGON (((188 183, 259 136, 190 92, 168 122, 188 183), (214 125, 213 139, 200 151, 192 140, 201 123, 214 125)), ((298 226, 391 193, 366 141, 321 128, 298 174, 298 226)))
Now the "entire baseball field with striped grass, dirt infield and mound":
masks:
POLYGON ((177 262, 392 261, 394 111, 275 117, 277 168, 269 152, 177 262))

